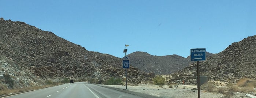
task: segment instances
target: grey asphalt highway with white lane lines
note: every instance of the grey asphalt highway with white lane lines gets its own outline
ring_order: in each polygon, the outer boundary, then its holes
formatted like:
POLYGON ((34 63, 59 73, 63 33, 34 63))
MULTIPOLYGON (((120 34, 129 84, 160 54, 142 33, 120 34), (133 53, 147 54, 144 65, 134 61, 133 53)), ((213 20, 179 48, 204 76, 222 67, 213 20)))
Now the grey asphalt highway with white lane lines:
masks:
POLYGON ((85 82, 62 84, 3 98, 143 98, 85 82))

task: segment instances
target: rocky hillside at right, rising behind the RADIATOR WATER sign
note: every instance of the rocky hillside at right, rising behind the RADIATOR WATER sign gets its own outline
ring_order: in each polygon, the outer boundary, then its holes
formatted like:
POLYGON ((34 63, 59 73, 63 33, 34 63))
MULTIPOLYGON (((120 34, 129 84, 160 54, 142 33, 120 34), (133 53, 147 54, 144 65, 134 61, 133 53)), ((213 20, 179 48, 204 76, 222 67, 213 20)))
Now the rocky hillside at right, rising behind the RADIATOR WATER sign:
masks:
MULTIPOLYGON (((200 75, 209 80, 235 83, 241 78, 256 79, 256 35, 234 42, 225 50, 200 61, 200 75)), ((170 82, 196 84, 197 64, 193 63, 172 74, 170 82)))

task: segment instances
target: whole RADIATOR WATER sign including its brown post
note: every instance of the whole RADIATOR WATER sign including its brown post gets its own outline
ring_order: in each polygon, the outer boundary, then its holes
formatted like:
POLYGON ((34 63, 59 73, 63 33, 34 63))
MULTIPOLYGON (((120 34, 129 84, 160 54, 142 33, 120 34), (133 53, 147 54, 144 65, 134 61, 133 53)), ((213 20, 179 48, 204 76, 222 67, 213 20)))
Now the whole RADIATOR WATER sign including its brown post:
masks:
POLYGON ((200 70, 199 70, 199 61, 205 61, 205 48, 196 48, 190 49, 191 61, 197 61, 197 93, 198 98, 200 98, 200 70))

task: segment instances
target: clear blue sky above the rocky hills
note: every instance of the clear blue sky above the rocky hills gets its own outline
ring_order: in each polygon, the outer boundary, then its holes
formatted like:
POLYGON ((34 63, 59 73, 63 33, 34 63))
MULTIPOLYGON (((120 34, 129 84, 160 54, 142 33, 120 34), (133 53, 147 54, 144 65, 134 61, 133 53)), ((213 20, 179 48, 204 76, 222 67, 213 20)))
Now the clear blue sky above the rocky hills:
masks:
POLYGON ((0 17, 123 57, 219 53, 256 35, 256 0, 0 0, 0 17))

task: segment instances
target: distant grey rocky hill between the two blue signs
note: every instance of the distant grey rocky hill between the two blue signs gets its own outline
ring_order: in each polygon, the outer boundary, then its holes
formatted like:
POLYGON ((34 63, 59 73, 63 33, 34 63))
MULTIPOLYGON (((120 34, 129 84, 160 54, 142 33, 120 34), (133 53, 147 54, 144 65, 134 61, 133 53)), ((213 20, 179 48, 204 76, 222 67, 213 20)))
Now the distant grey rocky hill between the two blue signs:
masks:
POLYGON ((170 74, 189 65, 186 58, 178 55, 152 56, 146 52, 134 52, 127 56, 134 67, 157 75, 170 74))

